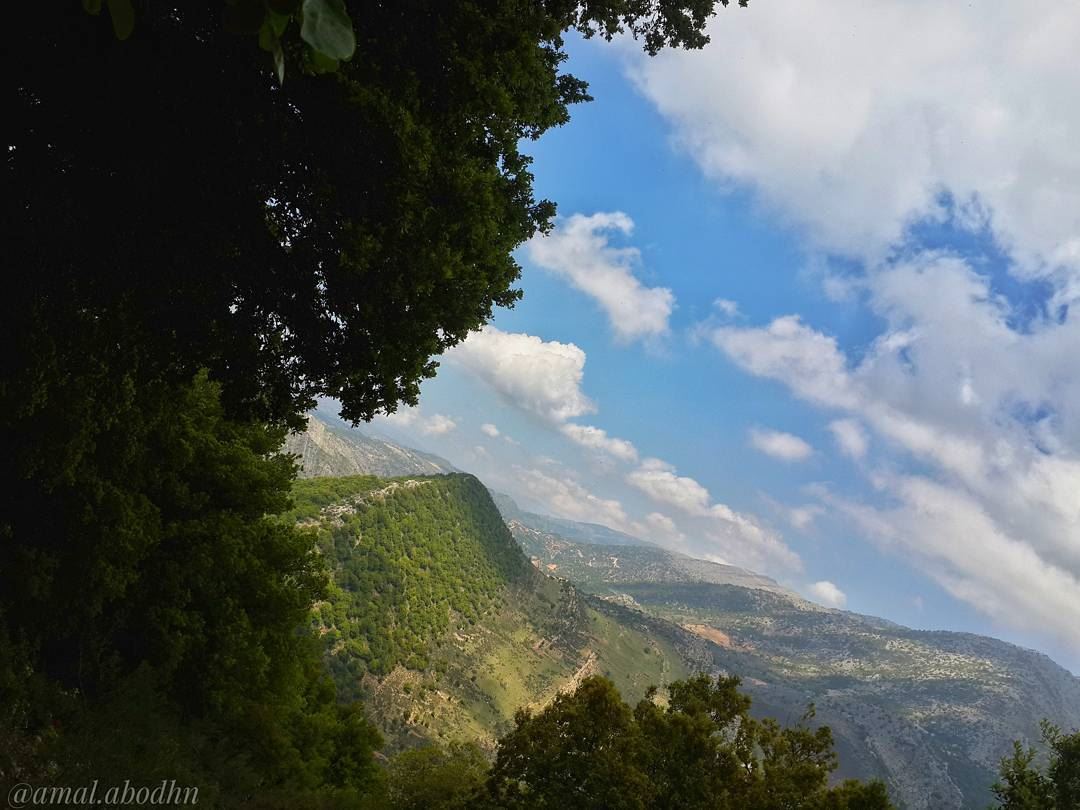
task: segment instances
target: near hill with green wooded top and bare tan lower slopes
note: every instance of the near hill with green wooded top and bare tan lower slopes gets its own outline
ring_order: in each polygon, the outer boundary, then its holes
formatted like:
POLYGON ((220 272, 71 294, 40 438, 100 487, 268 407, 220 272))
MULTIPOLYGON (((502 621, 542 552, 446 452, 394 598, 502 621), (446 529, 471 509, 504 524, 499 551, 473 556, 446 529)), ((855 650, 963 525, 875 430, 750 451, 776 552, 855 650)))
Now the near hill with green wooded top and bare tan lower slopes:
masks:
POLYGON ((537 571, 470 475, 310 478, 295 501, 333 575, 312 612, 330 672, 391 748, 490 744, 590 674, 631 700, 689 674, 671 638, 537 571))

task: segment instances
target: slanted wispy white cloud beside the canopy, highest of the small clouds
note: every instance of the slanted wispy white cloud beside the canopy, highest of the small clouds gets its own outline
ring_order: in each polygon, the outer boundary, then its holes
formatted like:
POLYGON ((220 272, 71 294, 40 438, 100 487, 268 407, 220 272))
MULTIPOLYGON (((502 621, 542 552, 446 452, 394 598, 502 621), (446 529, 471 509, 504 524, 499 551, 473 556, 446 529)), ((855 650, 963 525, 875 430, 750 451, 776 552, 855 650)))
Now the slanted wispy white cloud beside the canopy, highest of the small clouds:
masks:
POLYGON ((534 264, 569 281, 599 303, 621 341, 667 334, 675 296, 666 287, 647 287, 635 276, 636 247, 616 247, 612 233, 629 235, 633 220, 622 212, 573 214, 551 233, 527 243, 534 264))

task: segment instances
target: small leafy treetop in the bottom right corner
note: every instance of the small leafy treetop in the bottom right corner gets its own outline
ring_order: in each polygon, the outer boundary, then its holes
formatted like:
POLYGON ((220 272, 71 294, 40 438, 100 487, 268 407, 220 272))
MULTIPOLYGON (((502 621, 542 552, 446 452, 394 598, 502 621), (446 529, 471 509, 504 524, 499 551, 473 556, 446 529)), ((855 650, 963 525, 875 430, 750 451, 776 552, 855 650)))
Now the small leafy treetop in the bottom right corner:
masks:
POLYGON ((1002 758, 994 783, 998 807, 1007 810, 1077 810, 1080 808, 1080 731, 1065 734, 1043 720, 1042 742, 1048 762, 1034 747, 1013 742, 1013 753, 1002 758))

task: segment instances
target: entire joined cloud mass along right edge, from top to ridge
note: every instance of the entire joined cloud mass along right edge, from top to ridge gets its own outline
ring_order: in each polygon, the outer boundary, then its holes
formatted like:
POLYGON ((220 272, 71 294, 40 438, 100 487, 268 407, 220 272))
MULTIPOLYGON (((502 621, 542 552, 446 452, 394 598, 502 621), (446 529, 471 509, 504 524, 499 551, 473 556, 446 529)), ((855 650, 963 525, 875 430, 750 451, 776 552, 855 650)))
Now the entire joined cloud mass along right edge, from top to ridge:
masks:
POLYGON ((1080 14, 775 0, 710 33, 700 52, 627 50, 637 86, 706 176, 812 253, 856 259, 826 294, 885 323, 850 351, 794 314, 714 324, 713 342, 827 413, 851 458, 873 435, 878 495, 846 502, 849 519, 958 598, 1080 649, 1080 14), (1002 248, 1043 284, 1035 313, 977 265, 919 253, 926 221, 1002 248))

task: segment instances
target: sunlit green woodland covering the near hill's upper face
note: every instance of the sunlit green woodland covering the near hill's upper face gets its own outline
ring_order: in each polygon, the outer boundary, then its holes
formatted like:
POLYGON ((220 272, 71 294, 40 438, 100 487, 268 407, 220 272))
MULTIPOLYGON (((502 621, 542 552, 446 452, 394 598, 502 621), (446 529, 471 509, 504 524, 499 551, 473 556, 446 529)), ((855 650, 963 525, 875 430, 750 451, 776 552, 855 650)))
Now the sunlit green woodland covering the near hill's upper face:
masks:
POLYGON ((531 567, 487 489, 471 475, 382 482, 366 476, 296 485, 297 514, 349 491, 347 510, 324 519, 319 548, 334 571, 315 612, 343 685, 397 664, 424 669, 451 618, 474 622, 507 583, 531 567))

